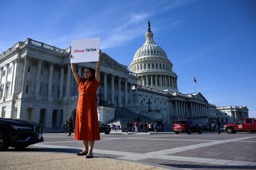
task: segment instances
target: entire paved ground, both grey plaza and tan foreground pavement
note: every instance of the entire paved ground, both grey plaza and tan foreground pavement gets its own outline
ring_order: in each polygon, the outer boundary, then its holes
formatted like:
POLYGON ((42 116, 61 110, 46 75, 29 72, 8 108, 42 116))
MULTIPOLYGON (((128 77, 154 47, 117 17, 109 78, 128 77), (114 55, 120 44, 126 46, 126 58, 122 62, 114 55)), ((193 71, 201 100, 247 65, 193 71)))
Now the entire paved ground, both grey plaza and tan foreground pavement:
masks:
POLYGON ((256 134, 101 134, 92 159, 77 156, 83 145, 64 133, 44 142, 2 152, 0 169, 256 169, 256 134), (48 165, 49 164, 49 165, 48 165))

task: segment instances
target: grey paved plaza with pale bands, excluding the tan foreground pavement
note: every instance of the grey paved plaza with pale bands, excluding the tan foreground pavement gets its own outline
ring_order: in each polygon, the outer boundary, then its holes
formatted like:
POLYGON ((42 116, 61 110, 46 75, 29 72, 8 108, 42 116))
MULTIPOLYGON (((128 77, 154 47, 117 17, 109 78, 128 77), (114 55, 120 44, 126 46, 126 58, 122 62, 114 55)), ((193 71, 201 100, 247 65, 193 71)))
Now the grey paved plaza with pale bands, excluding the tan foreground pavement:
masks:
MULTIPOLYGON (((81 141, 64 133, 45 133, 44 142, 19 152, 60 153, 81 152, 81 141)), ((236 133, 110 133, 101 134, 93 149, 94 158, 110 158, 165 169, 221 170, 256 169, 256 134, 236 133)), ((17 152, 9 148, 5 154, 17 152)), ((85 159, 85 158, 84 158, 85 159)), ((0 160, 0 169, 6 165, 0 160)), ((10 163, 11 165, 11 163, 10 163)), ((8 166, 5 166, 5 168, 8 166)), ((104 167, 101 167, 104 169, 104 167)), ((129 169, 129 167, 128 167, 129 169)))

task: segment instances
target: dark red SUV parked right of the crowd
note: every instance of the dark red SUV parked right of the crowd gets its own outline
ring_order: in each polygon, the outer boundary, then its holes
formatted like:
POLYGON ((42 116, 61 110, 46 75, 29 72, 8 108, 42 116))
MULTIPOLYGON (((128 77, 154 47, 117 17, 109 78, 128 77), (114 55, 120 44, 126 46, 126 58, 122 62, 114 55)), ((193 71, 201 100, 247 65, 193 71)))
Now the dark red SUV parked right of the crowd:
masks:
POLYGON ((173 132, 176 134, 179 133, 188 133, 197 132, 202 134, 203 128, 199 124, 193 122, 192 120, 177 120, 173 126, 173 132))

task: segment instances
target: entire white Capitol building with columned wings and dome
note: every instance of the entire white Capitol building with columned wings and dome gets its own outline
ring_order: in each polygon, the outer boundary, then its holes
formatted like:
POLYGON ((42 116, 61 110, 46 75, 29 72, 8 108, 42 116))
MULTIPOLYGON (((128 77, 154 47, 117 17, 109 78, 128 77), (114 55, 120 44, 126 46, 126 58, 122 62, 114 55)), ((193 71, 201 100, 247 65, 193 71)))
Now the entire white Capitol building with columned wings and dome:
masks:
MULTIPOLYGON (((98 100, 99 121, 114 119, 116 107, 171 124, 192 119, 203 125, 216 117, 222 124, 248 118, 246 106, 217 107, 200 93, 183 94, 178 90, 178 76, 166 52, 154 40, 150 29, 146 41, 129 66, 101 55, 98 100)), ((66 118, 76 116, 77 83, 71 74, 71 47, 60 49, 30 38, 20 41, 0 54, 0 116, 39 122, 46 132, 59 132, 66 118)), ((82 76, 85 67, 96 62, 77 63, 82 76)))

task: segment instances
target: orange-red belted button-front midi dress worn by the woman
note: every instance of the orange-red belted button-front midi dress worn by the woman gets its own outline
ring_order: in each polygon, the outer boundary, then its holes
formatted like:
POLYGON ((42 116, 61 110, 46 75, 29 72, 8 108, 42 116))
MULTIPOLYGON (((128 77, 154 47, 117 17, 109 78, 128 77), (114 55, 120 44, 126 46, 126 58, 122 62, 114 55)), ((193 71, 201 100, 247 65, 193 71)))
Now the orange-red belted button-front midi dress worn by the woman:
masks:
POLYGON ((91 82, 82 81, 83 79, 80 79, 78 83, 79 98, 76 109, 74 139, 79 141, 100 140, 96 96, 100 83, 95 79, 91 82))

